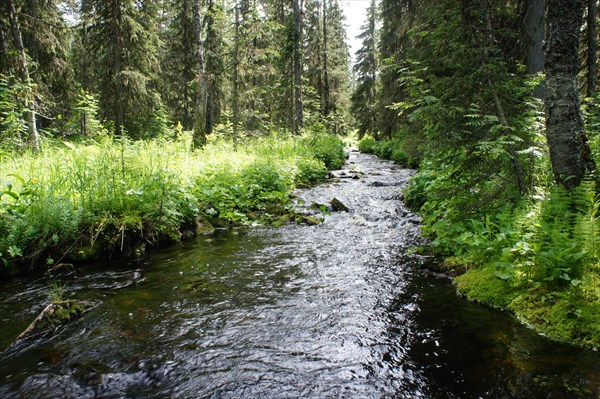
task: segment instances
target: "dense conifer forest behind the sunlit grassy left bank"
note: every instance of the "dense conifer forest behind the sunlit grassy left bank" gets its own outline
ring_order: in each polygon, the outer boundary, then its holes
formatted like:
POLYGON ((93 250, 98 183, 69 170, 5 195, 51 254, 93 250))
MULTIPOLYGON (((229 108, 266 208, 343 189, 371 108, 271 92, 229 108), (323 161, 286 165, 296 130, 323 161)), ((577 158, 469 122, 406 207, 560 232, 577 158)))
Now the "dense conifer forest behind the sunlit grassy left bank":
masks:
POLYGON ((47 135, 152 138, 179 123, 197 145, 218 125, 350 122, 338 1, 34 0, 1 11, 5 146, 39 147, 22 131, 26 108, 47 135))

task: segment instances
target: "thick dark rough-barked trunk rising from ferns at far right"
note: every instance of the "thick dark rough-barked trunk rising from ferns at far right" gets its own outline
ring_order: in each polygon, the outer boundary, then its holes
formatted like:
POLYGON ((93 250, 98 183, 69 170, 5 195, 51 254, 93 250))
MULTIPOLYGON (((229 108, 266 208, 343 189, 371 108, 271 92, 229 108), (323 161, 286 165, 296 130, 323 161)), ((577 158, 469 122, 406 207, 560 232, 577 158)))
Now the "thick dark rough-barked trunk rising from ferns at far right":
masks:
POLYGON ((546 0, 546 137, 556 182, 572 190, 593 170, 577 91, 583 0, 546 0))

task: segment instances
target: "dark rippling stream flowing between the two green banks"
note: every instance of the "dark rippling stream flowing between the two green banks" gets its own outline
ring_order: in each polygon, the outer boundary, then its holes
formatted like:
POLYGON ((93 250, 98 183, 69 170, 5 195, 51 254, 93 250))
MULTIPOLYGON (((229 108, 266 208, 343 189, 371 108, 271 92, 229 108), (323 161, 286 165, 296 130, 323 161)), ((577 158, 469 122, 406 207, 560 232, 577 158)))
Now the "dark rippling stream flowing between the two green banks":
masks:
MULTIPOLYGON (((0 285, 0 398, 597 398, 600 354, 536 335, 420 271, 411 171, 351 153, 298 193, 319 226, 186 241, 57 277, 99 300, 11 346, 49 279, 0 285), (317 207, 318 208, 318 207, 317 207)), ((56 284, 56 283, 55 283, 56 284)))

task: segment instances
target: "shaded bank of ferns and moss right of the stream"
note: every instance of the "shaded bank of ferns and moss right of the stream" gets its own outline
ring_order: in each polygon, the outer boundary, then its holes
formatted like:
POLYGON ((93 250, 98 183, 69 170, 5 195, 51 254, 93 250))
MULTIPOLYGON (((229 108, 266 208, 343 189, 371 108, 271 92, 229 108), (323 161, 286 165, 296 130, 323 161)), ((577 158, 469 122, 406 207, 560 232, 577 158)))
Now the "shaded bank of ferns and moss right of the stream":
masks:
MULTIPOLYGON (((359 147, 415 164, 401 141, 366 138, 359 147)), ((451 173, 423 161, 404 198, 422 215, 423 233, 445 259, 443 271, 455 276, 458 293, 509 311, 552 339, 600 348, 600 223, 593 183, 571 193, 537 187, 536 196, 497 207, 488 199, 480 211, 482 199, 476 192, 456 193, 451 173)))

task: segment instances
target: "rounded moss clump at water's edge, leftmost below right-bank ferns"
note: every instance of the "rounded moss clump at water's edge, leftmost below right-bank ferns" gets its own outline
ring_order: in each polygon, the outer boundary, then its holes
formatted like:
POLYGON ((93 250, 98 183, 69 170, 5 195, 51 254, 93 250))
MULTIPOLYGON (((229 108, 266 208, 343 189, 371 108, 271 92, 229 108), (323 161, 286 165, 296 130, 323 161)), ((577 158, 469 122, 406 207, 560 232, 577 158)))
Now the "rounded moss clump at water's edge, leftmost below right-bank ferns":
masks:
POLYGON ((491 267, 471 269, 455 279, 458 292, 485 305, 506 309, 517 296, 517 290, 494 275, 491 267))

